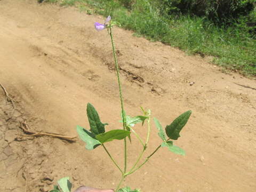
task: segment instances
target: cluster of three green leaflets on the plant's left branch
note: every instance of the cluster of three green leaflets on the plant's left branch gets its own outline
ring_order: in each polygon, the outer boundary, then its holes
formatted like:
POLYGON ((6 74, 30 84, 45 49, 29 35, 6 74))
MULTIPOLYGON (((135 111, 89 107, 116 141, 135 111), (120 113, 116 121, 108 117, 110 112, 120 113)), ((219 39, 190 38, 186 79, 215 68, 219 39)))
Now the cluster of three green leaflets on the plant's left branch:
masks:
POLYGON ((112 141, 114 139, 121 140, 130 135, 126 130, 111 130, 105 133, 105 125, 100 121, 97 110, 91 105, 87 104, 87 117, 89 119, 90 131, 77 125, 76 130, 79 137, 86 142, 86 149, 92 150, 100 146, 102 143, 112 141))

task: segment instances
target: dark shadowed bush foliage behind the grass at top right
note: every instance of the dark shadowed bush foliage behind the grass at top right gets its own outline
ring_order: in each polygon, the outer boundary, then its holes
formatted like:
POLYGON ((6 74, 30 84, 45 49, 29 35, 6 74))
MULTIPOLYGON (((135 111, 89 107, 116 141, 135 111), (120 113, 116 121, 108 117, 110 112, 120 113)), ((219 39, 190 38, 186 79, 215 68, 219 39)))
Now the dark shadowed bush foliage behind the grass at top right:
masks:
POLYGON ((241 15, 250 17, 255 0, 158 0, 162 14, 194 14, 221 23, 238 19, 241 15))

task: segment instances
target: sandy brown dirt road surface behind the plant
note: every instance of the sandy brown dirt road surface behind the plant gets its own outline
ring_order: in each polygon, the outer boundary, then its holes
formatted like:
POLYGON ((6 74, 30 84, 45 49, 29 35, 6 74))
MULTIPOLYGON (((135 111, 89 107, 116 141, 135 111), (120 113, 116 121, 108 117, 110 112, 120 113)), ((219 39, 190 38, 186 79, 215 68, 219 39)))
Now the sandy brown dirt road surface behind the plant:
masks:
MULTIPOLYGON (((49 191, 62 177, 74 187, 115 188, 119 172, 101 147, 77 139, 25 137, 30 130, 77 136, 86 104, 107 129, 121 128, 118 86, 104 18, 32 0, 0 1, 0 191, 49 191), (14 108, 15 107, 15 108, 14 108)), ((125 110, 150 108, 162 124, 191 109, 176 142, 186 156, 159 150, 124 186, 156 191, 256 191, 256 82, 157 42, 114 28, 125 110)), ((146 127, 136 127, 145 135, 146 127)), ((161 142, 153 126, 146 154, 161 142)), ((123 142, 107 145, 123 164, 123 142)), ((133 137, 129 162, 141 150, 133 137)), ((129 163, 129 166, 132 164, 129 163)))

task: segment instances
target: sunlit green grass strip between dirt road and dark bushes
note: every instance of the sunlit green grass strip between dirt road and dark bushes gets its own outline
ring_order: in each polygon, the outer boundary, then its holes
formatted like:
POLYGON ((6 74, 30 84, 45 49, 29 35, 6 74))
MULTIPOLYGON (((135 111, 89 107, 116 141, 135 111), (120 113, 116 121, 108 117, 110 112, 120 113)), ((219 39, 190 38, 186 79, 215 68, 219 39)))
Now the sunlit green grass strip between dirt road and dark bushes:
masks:
POLYGON ((163 17, 146 0, 137 0, 132 9, 126 9, 114 0, 47 0, 61 5, 75 5, 121 23, 153 41, 178 47, 189 54, 214 56, 213 63, 245 76, 256 77, 256 40, 246 30, 238 27, 221 28, 203 18, 188 15, 163 17))

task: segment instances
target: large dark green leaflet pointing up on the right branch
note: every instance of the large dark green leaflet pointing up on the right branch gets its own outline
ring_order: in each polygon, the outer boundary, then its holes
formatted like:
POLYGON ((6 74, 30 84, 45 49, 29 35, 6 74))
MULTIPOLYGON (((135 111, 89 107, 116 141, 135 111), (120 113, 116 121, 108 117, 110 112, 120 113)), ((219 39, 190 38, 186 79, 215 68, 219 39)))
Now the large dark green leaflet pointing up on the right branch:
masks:
POLYGON ((175 118, 174 121, 165 127, 165 132, 170 139, 177 140, 180 137, 180 131, 183 126, 186 125, 192 111, 186 111, 179 117, 175 118))

